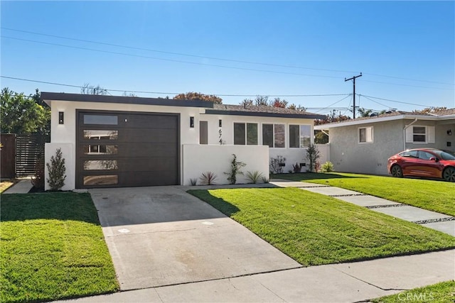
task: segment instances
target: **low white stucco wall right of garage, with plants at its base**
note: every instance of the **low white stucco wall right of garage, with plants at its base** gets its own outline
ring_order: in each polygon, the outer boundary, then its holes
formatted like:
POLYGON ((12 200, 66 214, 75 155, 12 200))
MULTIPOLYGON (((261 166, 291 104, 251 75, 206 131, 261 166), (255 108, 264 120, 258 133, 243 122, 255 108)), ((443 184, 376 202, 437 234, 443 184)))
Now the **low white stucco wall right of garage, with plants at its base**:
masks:
MULTIPOLYGON (((184 144, 183 155, 183 182, 190 185, 191 179, 198 180, 203 172, 213 172, 217 175, 217 184, 229 184, 228 175, 232 162, 232 154, 237 161, 244 162, 242 172, 258 171, 269 179, 269 148, 263 145, 198 145, 184 144)), ((245 175, 237 175, 237 183, 247 183, 245 175)))

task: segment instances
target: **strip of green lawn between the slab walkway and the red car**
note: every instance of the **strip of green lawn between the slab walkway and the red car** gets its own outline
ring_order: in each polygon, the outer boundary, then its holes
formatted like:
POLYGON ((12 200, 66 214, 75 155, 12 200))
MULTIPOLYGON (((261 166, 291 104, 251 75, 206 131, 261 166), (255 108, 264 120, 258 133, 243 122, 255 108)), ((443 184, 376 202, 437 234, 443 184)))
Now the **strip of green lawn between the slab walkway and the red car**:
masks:
POLYGON ((455 216, 455 183, 342 172, 274 175, 274 178, 327 184, 455 216))

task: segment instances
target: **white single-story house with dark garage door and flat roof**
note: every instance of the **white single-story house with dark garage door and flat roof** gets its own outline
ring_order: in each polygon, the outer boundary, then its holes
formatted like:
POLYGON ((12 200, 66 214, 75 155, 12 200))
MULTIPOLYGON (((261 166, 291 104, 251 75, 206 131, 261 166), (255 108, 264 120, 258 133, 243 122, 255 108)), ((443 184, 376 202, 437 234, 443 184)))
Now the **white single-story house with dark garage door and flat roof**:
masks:
MULTIPOLYGON (((246 163, 243 172, 257 170, 268 179, 270 158, 286 158, 284 172, 306 162, 313 121, 324 118, 208 101, 52 92, 41 98, 52 111, 45 162, 62 149, 63 189, 187 185, 203 172, 227 184, 232 154, 246 163)), ((247 180, 238 175, 237 182, 247 180)))

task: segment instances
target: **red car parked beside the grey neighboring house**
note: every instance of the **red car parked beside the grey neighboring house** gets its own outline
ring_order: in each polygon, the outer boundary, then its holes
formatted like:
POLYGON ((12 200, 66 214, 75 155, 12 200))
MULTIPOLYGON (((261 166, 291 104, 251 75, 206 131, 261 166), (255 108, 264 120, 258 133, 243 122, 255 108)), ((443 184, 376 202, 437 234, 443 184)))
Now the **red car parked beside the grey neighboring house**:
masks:
POLYGON ((387 170, 393 177, 432 177, 455 182, 455 153, 435 148, 405 150, 389 158, 387 170))

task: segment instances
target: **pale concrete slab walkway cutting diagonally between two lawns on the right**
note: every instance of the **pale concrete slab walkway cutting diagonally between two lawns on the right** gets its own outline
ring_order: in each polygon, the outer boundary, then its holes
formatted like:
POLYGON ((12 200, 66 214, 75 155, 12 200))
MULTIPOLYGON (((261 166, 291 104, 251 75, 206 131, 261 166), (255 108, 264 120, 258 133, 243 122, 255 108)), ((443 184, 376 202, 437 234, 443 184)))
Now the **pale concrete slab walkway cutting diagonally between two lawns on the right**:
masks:
POLYGON ((367 207, 372 211, 378 211, 382 214, 395 216, 396 218, 414 222, 437 231, 442 231, 443 233, 449 233, 451 236, 455 236, 455 217, 453 216, 439 214, 434 211, 420 209, 407 204, 392 202, 386 199, 373 197, 368 194, 361 194, 359 192, 353 192, 352 190, 331 187, 323 184, 278 179, 272 180, 270 183, 278 187, 297 187, 309 192, 324 194, 358 206, 367 207))

